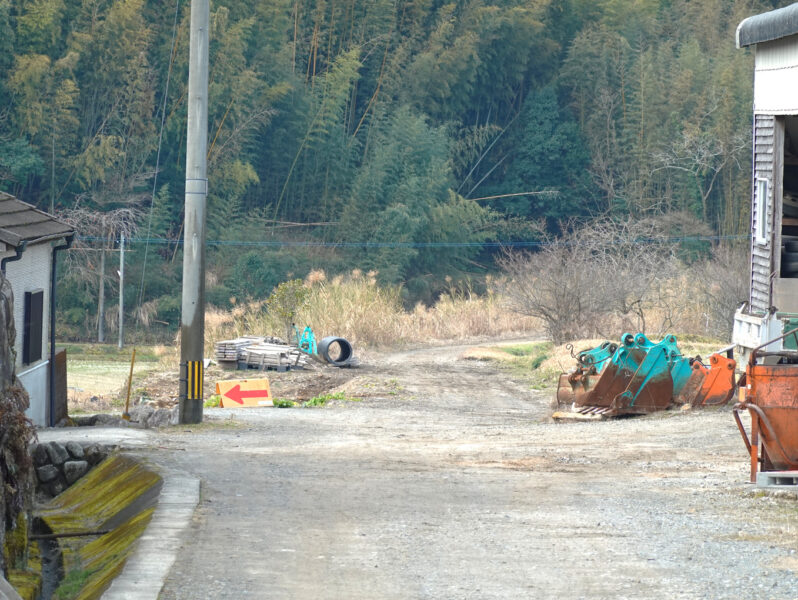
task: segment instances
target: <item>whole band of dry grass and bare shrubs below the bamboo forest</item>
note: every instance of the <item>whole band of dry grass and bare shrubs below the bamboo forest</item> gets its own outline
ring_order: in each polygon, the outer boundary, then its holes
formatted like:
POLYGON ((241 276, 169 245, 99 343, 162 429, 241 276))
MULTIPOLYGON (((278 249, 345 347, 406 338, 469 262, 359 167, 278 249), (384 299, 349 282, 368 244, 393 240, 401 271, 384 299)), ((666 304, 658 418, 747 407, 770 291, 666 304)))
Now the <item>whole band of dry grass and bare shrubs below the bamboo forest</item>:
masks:
POLYGON ((540 334, 562 344, 624 331, 728 340, 734 310, 747 296, 747 248, 718 246, 696 256, 661 225, 601 220, 575 227, 537 252, 507 253, 503 272, 481 293, 450 281, 437 302, 411 309, 401 288, 380 285, 375 272, 328 278, 313 271, 293 282, 303 290, 289 294, 293 309, 270 309, 281 286, 265 301, 209 310, 206 351, 240 335, 284 336, 286 314, 319 339, 342 336, 361 349, 540 334), (640 248, 642 236, 656 243, 640 248))

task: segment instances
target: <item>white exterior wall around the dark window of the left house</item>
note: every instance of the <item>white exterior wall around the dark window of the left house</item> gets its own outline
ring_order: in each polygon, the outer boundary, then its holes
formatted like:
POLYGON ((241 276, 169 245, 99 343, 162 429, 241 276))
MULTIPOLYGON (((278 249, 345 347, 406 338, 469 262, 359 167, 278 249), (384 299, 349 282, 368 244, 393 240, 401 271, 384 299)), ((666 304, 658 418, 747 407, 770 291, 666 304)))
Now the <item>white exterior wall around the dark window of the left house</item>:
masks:
MULTIPOLYGON (((14 326, 17 337, 14 350, 17 353, 16 371, 22 385, 30 395, 27 416, 38 426, 47 425, 49 390, 50 346, 50 269, 52 247, 49 242, 28 246, 18 261, 6 263, 6 278, 14 290, 14 326), (25 319, 25 292, 44 291, 42 311, 42 358, 29 365, 22 364, 22 341, 25 319)), ((0 253, 0 259, 14 256, 14 252, 0 253)))

